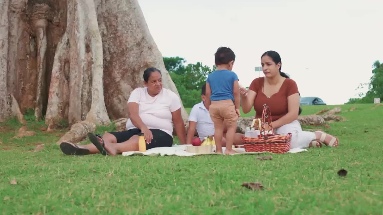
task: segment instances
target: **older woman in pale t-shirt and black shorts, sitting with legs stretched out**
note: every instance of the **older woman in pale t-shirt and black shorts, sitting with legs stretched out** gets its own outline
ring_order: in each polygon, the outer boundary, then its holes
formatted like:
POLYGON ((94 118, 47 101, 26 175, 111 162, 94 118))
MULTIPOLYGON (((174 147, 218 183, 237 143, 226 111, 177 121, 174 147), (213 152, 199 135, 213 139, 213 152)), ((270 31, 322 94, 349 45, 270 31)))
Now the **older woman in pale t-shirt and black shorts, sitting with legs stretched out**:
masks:
POLYGON ((100 137, 88 134, 92 144, 61 143, 67 155, 101 153, 116 155, 124 151, 138 151, 138 139, 143 135, 146 148, 171 147, 173 124, 181 144, 186 143, 185 126, 181 116, 181 101, 173 91, 162 88, 162 75, 157 68, 144 71, 143 88, 136 88, 128 99, 129 119, 126 130, 109 132, 100 137), (173 124, 172 124, 173 123, 173 124))

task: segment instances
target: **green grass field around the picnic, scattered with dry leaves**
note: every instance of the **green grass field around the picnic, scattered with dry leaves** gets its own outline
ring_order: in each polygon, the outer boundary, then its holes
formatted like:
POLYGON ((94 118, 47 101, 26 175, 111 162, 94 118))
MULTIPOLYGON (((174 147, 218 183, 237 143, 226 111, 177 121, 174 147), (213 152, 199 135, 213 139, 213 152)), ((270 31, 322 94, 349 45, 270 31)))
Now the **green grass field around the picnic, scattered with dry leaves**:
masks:
MULTIPOLYGON (((0 213, 383 214, 383 106, 340 107, 356 109, 340 114, 345 122, 318 127, 340 139, 338 148, 264 161, 256 155, 65 156, 54 143, 66 129, 47 134, 29 114, 32 137, 12 138, 21 127, 15 120, 0 126, 0 213), (43 150, 29 151, 40 144, 43 150), (345 177, 337 175, 342 168, 345 177)), ((303 106, 302 114, 323 108, 303 106)))

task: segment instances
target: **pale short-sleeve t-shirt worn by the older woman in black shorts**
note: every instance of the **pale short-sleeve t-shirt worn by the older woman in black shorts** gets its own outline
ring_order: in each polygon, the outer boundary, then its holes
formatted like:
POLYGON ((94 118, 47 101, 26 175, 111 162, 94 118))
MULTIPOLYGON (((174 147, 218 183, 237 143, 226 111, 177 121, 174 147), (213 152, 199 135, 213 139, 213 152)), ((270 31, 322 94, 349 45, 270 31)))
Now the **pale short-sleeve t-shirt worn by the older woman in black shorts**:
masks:
MULTIPOLYGON (((173 91, 162 88, 152 97, 147 88, 136 88, 129 96, 128 103, 138 104, 138 115, 148 129, 160 129, 173 137, 172 112, 181 108, 181 101, 173 91)), ((136 129, 132 121, 126 122, 126 130, 136 129)))

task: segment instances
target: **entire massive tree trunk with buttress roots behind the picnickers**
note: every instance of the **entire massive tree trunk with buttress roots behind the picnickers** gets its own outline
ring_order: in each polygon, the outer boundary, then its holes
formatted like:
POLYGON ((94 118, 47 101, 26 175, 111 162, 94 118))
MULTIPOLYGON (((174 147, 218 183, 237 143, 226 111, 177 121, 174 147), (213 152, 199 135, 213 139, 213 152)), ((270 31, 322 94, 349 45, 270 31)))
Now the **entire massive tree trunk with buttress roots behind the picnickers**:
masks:
POLYGON ((83 136, 128 117, 147 67, 178 94, 137 0, 2 0, 0 12, 0 121, 33 108, 49 129, 67 121, 83 136))

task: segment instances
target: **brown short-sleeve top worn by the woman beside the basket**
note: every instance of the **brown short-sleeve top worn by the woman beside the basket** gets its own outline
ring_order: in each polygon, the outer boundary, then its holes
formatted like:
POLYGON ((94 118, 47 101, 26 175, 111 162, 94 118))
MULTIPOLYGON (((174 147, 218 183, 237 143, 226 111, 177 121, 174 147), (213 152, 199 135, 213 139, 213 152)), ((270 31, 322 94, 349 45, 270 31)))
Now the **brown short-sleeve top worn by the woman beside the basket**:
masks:
POLYGON ((256 112, 255 118, 262 117, 264 104, 266 104, 270 108, 272 120, 276 121, 280 117, 287 114, 287 97, 291 96, 292 94, 299 93, 298 86, 296 85, 295 81, 290 78, 286 78, 283 81, 278 93, 275 93, 270 98, 267 98, 267 96, 265 96, 265 94, 262 92, 264 80, 264 77, 255 78, 249 87, 249 90, 257 93, 254 99, 254 110, 256 112))

